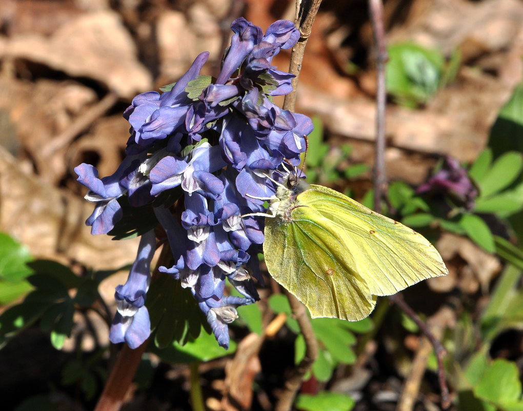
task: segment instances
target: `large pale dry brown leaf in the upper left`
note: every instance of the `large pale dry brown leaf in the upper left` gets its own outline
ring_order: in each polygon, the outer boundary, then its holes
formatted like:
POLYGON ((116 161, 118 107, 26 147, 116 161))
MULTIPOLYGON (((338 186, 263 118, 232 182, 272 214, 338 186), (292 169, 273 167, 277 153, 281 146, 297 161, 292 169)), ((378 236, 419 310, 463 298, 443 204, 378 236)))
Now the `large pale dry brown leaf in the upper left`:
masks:
POLYGON ((129 32, 111 10, 85 13, 47 38, 33 34, 0 37, 0 58, 5 57, 94 79, 125 98, 152 86, 129 32))

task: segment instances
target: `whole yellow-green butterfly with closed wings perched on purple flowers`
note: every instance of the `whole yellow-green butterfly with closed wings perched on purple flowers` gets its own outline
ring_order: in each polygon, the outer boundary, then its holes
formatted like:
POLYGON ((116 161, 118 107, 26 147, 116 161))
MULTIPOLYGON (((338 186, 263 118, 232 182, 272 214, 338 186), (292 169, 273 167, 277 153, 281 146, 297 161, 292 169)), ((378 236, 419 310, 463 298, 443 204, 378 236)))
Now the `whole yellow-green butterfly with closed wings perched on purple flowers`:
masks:
POLYGON ((289 173, 265 218, 267 269, 311 316, 357 321, 377 296, 448 274, 418 232, 289 173))

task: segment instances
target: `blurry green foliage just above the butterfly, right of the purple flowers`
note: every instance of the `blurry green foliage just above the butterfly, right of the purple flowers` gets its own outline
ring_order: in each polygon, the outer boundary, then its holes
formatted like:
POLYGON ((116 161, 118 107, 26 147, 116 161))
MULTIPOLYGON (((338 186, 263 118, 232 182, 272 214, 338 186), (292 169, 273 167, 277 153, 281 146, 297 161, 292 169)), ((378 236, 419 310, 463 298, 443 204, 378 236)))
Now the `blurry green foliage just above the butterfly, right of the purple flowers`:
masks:
POLYGON ((334 147, 323 141, 323 123, 317 116, 312 118, 314 130, 307 137, 307 181, 313 184, 332 185, 343 179, 353 179, 367 172, 367 164, 347 164, 351 148, 348 145, 334 147))

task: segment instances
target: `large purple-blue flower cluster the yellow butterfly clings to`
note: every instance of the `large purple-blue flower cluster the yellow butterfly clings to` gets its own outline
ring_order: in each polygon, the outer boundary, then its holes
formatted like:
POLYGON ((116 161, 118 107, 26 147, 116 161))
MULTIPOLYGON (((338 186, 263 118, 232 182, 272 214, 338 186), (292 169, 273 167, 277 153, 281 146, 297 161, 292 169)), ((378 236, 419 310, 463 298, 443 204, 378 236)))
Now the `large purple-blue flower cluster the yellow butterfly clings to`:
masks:
MULTIPOLYGON (((160 270, 181 281, 223 347, 236 307, 258 299, 257 253, 264 241, 264 198, 275 194, 282 162, 297 165, 312 121, 282 110, 271 96, 291 91, 293 75, 276 70, 272 57, 299 39, 291 21, 279 20, 263 35, 239 18, 217 79, 199 75, 209 53, 162 94, 138 95, 124 113, 131 124, 127 157, 111 176, 98 178, 88 164, 75 168, 96 204, 86 224, 107 234, 123 217, 122 204, 151 207, 166 232, 174 265, 160 270), (214 80, 214 81, 213 81, 214 80), (183 209, 175 216, 170 206, 183 209), (181 207, 180 207, 181 204, 181 207), (224 295, 225 279, 243 297, 224 295)), ((145 296, 155 249, 154 227, 141 237, 126 284, 116 289, 118 313, 112 342, 138 347, 149 337, 145 296)))

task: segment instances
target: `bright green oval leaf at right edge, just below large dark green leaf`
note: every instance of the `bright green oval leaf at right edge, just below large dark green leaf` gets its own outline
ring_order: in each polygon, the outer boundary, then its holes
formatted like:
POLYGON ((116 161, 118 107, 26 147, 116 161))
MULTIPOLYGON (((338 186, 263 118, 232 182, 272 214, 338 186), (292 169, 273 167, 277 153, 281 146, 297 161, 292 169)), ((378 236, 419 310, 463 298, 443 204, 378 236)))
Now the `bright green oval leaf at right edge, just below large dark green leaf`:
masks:
POLYGON ((478 180, 481 187, 480 196, 488 197, 500 192, 516 180, 522 168, 523 155, 521 153, 509 151, 501 155, 483 178, 478 180))

